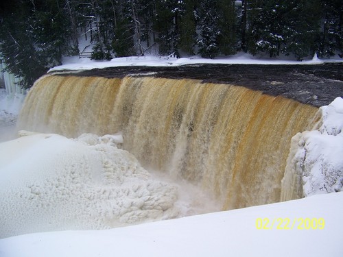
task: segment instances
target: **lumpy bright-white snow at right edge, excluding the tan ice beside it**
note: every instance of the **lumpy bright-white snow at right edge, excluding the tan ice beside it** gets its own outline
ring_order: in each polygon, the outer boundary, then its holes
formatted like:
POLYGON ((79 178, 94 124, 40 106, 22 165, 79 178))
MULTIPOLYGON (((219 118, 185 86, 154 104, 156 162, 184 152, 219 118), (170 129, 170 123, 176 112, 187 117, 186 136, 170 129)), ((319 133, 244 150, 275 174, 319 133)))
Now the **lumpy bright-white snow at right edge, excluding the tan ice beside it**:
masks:
POLYGON ((305 197, 343 191, 343 99, 338 97, 320 110, 322 125, 303 133, 297 154, 305 197))

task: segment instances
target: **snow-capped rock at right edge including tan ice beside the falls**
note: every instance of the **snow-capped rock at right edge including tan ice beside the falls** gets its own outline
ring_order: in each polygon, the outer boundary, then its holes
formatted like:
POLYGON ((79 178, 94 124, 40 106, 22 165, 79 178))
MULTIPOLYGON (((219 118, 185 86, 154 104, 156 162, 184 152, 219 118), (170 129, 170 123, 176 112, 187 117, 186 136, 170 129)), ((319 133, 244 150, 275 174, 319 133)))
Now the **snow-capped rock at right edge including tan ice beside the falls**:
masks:
POLYGON ((282 200, 343 191, 343 99, 319 112, 322 119, 315 130, 292 138, 283 189, 292 184, 295 196, 285 189, 282 200))

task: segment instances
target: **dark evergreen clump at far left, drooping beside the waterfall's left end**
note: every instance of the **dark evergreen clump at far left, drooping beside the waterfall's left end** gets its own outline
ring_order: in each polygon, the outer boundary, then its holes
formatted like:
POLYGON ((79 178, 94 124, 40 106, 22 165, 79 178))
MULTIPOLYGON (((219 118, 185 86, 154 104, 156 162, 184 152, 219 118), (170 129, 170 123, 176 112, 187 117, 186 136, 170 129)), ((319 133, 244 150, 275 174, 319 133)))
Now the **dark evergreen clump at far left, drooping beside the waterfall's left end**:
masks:
POLYGON ((59 1, 1 6, 0 52, 7 70, 28 88, 69 53, 69 27, 59 1))

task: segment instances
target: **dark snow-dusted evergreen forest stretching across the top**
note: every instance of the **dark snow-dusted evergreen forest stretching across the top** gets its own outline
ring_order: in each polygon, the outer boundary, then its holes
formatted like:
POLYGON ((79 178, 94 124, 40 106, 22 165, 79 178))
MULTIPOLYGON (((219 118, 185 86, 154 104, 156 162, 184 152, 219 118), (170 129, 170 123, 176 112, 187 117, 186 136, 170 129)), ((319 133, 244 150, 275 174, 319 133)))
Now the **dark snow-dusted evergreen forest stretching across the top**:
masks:
POLYGON ((29 88, 63 56, 342 55, 341 0, 5 0, 0 59, 29 88), (91 49, 80 49, 80 41, 91 49))

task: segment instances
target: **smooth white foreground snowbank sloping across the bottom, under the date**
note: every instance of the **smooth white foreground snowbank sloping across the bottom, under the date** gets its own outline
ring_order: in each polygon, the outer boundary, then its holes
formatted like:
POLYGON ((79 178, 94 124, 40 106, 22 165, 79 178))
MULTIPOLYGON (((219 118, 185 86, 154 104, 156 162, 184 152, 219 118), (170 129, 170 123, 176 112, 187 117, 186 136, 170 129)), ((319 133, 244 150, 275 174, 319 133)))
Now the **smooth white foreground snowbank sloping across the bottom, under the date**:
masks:
POLYGON ((343 193, 332 193, 113 230, 27 234, 0 240, 0 255, 338 257, 343 256, 342 203, 343 193), (268 228, 274 219, 291 223, 288 230, 277 220, 270 229, 258 229, 259 219, 268 219, 268 228))

